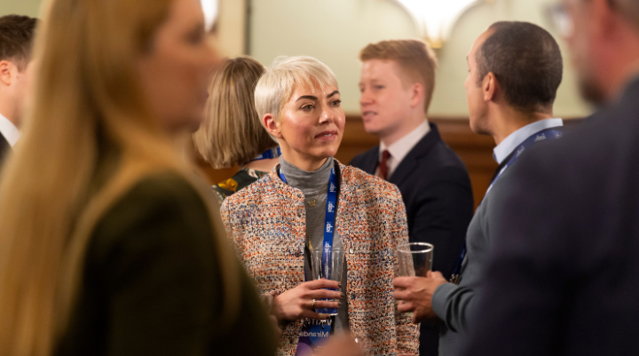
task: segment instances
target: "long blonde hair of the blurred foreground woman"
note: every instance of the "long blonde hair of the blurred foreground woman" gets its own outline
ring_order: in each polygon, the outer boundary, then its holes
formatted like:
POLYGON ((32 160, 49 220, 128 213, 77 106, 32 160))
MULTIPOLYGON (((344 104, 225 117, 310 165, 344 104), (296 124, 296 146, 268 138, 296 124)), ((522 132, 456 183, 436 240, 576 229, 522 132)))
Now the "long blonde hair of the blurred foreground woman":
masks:
MULTIPOLYGON (((190 179, 146 106, 136 67, 173 1, 45 5, 32 109, 0 178, 1 355, 51 355, 67 328, 91 233, 122 194, 160 170, 190 179)), ((227 248, 223 236, 216 240, 227 248)), ((239 288, 233 256, 217 256, 229 318, 239 288)))

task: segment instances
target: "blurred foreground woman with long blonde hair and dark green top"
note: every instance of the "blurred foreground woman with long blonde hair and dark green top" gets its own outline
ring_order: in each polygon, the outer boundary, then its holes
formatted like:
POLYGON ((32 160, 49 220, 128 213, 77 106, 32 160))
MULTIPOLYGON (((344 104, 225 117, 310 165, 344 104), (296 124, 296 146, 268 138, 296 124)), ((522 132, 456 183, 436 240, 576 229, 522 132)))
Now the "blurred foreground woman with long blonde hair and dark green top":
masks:
POLYGON ((200 2, 43 8, 33 105, 0 184, 0 354, 274 353, 176 144, 217 63, 200 2))

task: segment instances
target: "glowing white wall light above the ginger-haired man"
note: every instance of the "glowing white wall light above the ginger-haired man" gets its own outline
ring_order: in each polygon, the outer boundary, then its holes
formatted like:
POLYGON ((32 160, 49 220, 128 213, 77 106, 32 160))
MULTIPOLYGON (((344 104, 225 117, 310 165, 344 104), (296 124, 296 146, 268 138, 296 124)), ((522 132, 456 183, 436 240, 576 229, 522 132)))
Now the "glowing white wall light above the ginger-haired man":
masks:
POLYGON ((421 36, 432 48, 441 48, 448 40, 461 14, 479 3, 494 0, 396 0, 413 18, 421 36))

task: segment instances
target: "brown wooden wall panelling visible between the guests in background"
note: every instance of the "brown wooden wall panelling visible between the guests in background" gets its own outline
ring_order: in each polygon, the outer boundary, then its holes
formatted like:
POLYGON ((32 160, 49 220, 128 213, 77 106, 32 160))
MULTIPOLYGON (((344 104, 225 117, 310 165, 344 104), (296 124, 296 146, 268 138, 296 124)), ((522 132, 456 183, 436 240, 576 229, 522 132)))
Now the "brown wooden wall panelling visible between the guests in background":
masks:
MULTIPOLYGON (((493 160, 494 141, 490 136, 477 135, 470 131, 468 118, 442 119, 430 118, 431 123, 438 125, 439 133, 448 146, 453 148, 461 161, 466 164, 472 184, 475 207, 481 202, 493 177, 497 163, 493 160)), ((567 126, 573 126, 580 120, 566 120, 567 126)), ((340 162, 348 163, 351 159, 368 149, 377 146, 378 139, 364 131, 364 124, 359 116, 348 116, 344 128, 342 145, 335 154, 340 162)), ((206 162, 197 160, 205 171, 210 183, 217 183, 230 178, 238 170, 237 167, 225 170, 213 170, 206 162)))

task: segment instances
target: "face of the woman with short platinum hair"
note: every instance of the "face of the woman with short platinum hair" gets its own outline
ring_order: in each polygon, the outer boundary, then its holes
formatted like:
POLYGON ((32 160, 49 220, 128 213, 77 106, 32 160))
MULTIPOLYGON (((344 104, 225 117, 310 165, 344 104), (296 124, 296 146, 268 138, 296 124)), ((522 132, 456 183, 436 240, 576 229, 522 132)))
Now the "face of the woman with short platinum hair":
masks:
POLYGON ((332 85, 319 88, 297 85, 282 108, 277 128, 284 158, 299 168, 335 155, 342 142, 345 115, 340 93, 332 85))

